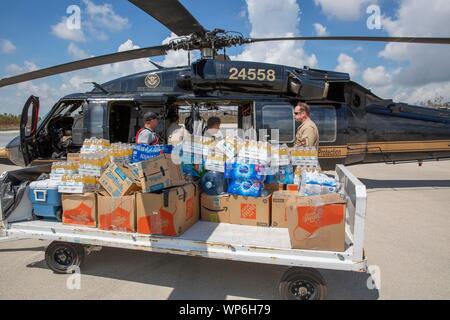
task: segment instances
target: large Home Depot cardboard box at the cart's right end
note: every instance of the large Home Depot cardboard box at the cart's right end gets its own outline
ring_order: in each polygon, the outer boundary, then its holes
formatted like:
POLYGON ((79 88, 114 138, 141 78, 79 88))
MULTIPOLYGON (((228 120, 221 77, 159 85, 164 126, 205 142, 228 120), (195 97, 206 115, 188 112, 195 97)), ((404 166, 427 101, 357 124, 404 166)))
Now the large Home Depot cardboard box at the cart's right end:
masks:
POLYGON ((292 248, 345 250, 345 201, 338 194, 296 196, 287 219, 292 248))

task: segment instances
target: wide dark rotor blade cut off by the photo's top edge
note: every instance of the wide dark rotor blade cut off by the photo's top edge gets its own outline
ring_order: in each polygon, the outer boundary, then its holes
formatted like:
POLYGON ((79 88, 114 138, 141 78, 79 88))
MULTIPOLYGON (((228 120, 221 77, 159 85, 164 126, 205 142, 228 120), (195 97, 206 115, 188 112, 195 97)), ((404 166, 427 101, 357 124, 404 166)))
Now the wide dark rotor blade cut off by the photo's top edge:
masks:
POLYGON ((158 20, 177 36, 205 32, 202 25, 178 0, 128 0, 158 20))

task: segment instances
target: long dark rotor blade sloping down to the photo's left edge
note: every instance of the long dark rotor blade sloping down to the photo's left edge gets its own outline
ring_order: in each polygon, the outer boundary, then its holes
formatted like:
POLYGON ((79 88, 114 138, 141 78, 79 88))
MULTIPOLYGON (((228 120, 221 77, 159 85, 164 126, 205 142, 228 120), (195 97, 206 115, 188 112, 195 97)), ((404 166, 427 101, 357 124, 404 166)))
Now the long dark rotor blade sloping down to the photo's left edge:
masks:
POLYGON ((167 50, 170 47, 167 45, 157 46, 157 47, 148 47, 142 49, 135 49, 130 51, 116 52, 112 54, 107 54, 104 56, 88 58, 84 60, 78 60, 74 62, 69 62, 65 64, 61 64, 58 66, 45 68, 41 70, 36 70, 24 74, 20 74, 17 76, 12 76, 9 78, 0 79, 0 88, 9 86, 16 83, 21 83, 25 81, 30 81, 34 79, 44 78, 53 76, 56 74, 61 74, 65 72, 97 67, 104 64, 116 63, 140 58, 148 58, 154 56, 162 56, 167 54, 167 50))

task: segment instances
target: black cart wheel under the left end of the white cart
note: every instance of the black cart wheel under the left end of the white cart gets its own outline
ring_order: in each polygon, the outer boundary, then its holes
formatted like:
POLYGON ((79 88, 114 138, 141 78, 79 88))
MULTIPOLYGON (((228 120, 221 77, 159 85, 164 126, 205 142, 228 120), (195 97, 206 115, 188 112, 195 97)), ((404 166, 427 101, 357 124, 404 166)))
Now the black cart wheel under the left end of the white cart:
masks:
POLYGON ((84 247, 80 244, 54 241, 45 250, 45 262, 55 273, 68 273, 80 267, 84 260, 84 247))

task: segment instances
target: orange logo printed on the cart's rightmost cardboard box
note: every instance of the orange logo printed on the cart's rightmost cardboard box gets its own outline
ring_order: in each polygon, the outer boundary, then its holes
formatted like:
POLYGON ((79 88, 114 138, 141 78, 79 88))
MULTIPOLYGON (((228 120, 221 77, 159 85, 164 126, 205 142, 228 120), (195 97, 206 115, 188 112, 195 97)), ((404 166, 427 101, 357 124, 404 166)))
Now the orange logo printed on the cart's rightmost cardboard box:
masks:
POLYGON ((344 206, 330 204, 317 207, 297 207, 298 225, 309 233, 333 224, 339 224, 344 219, 344 206))

